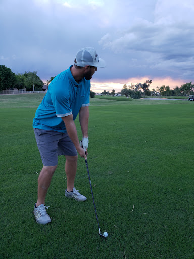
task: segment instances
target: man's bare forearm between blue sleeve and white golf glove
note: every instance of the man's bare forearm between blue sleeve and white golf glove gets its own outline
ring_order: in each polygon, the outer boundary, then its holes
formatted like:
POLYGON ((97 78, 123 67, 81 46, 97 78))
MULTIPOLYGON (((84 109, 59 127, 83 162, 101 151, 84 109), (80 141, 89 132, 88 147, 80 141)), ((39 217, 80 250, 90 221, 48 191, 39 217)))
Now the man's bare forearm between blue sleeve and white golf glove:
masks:
POLYGON ((79 110, 79 123, 84 138, 88 137, 89 106, 82 106, 79 110))

